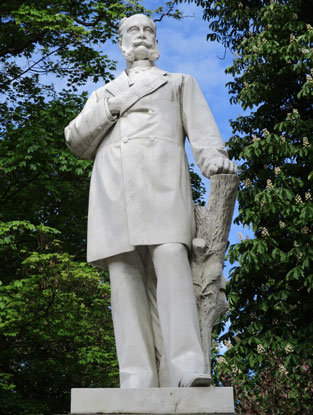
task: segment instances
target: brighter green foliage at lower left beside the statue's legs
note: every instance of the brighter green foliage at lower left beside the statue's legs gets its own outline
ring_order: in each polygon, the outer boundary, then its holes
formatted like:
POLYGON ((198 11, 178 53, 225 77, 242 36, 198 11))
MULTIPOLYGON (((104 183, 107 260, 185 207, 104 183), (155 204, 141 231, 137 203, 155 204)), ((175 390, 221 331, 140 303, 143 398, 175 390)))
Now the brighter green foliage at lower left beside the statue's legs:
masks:
POLYGON ((6 414, 62 413, 70 389, 118 385, 107 276, 62 251, 60 232, 0 223, 19 263, 0 285, 0 400, 6 414))

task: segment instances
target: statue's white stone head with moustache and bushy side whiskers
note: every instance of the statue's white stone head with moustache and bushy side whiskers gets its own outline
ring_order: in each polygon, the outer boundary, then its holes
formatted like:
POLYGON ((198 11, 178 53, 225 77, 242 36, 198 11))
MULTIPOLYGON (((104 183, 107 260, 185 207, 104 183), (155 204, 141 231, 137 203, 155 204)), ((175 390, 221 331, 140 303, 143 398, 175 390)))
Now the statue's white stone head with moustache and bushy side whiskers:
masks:
POLYGON ((154 62, 159 58, 155 23, 144 14, 134 14, 122 19, 119 35, 118 44, 127 62, 154 62))

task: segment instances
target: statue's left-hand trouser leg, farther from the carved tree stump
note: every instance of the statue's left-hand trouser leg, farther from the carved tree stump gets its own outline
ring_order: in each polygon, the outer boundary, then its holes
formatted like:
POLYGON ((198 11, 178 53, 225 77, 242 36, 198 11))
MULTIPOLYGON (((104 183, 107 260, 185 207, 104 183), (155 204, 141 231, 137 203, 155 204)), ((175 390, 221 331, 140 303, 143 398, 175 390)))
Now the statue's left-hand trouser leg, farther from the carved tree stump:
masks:
POLYGON ((136 251, 108 260, 121 388, 158 387, 145 273, 136 251))

